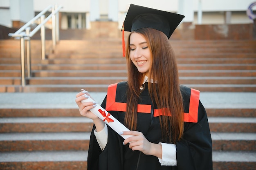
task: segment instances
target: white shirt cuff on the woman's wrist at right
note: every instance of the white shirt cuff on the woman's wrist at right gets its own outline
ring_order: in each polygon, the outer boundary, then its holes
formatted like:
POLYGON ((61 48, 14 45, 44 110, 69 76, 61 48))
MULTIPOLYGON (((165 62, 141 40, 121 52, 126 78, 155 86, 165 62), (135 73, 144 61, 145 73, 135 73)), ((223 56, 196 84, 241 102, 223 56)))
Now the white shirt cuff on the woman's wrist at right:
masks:
POLYGON ((159 145, 162 145, 162 159, 158 158, 159 163, 161 163, 162 166, 176 166, 176 145, 161 142, 159 145))

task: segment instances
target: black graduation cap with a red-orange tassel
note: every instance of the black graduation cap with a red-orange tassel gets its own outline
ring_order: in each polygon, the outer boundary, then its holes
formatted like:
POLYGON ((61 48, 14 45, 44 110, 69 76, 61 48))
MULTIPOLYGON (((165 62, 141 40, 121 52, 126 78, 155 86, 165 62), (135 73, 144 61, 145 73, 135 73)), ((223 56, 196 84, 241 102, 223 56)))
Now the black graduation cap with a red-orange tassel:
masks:
POLYGON ((177 13, 130 4, 122 27, 123 56, 125 56, 124 31, 152 28, 162 31, 169 39, 184 17, 177 13))

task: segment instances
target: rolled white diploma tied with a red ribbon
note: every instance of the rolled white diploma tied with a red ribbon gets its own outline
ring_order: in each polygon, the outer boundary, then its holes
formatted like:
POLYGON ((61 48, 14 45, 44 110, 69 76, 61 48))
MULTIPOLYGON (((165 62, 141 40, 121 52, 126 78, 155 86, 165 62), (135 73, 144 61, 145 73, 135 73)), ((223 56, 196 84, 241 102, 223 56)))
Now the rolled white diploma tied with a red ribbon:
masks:
MULTIPOLYGON (((88 97, 88 99, 84 99, 81 101, 82 103, 84 102, 94 102, 94 100, 91 97, 88 97)), ((106 115, 108 115, 108 112, 102 108, 99 104, 96 104, 96 106, 92 109, 90 109, 90 111, 92 113, 94 113, 94 115, 98 116, 101 120, 104 120, 105 117, 103 117, 103 115, 101 115, 101 113, 99 112, 99 109, 101 109, 102 111, 105 111, 106 115)), ((115 130, 115 132, 117 132, 118 134, 120 132, 123 131, 129 131, 128 128, 126 128, 126 126, 124 126, 123 124, 120 123, 120 121, 118 121, 115 117, 113 117, 111 114, 110 116, 108 116, 110 119, 112 119, 113 121, 108 122, 107 120, 105 120, 104 122, 110 126, 110 128, 112 128, 113 130, 115 130)), ((131 137, 132 135, 120 135, 121 137, 123 137, 124 139, 127 139, 128 137, 131 137)))

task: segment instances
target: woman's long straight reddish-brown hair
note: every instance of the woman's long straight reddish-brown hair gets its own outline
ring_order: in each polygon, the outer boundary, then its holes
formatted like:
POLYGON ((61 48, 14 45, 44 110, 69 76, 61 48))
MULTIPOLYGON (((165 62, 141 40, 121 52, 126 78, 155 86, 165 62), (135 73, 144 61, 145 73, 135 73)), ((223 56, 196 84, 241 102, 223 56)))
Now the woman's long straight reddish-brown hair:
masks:
MULTIPOLYGON (((163 116, 159 116, 162 136, 167 137, 167 139, 175 144, 183 136, 184 109, 174 52, 168 38, 161 31, 143 28, 133 32, 142 35, 148 43, 148 48, 153 58, 148 79, 157 81, 157 83, 148 83, 148 91, 152 101, 155 101, 157 108, 162 108, 163 116)), ((137 105, 141 92, 139 86, 143 83, 144 75, 139 73, 136 66, 130 60, 130 35, 128 36, 126 46, 128 91, 125 124, 131 130, 136 130, 137 105)))

